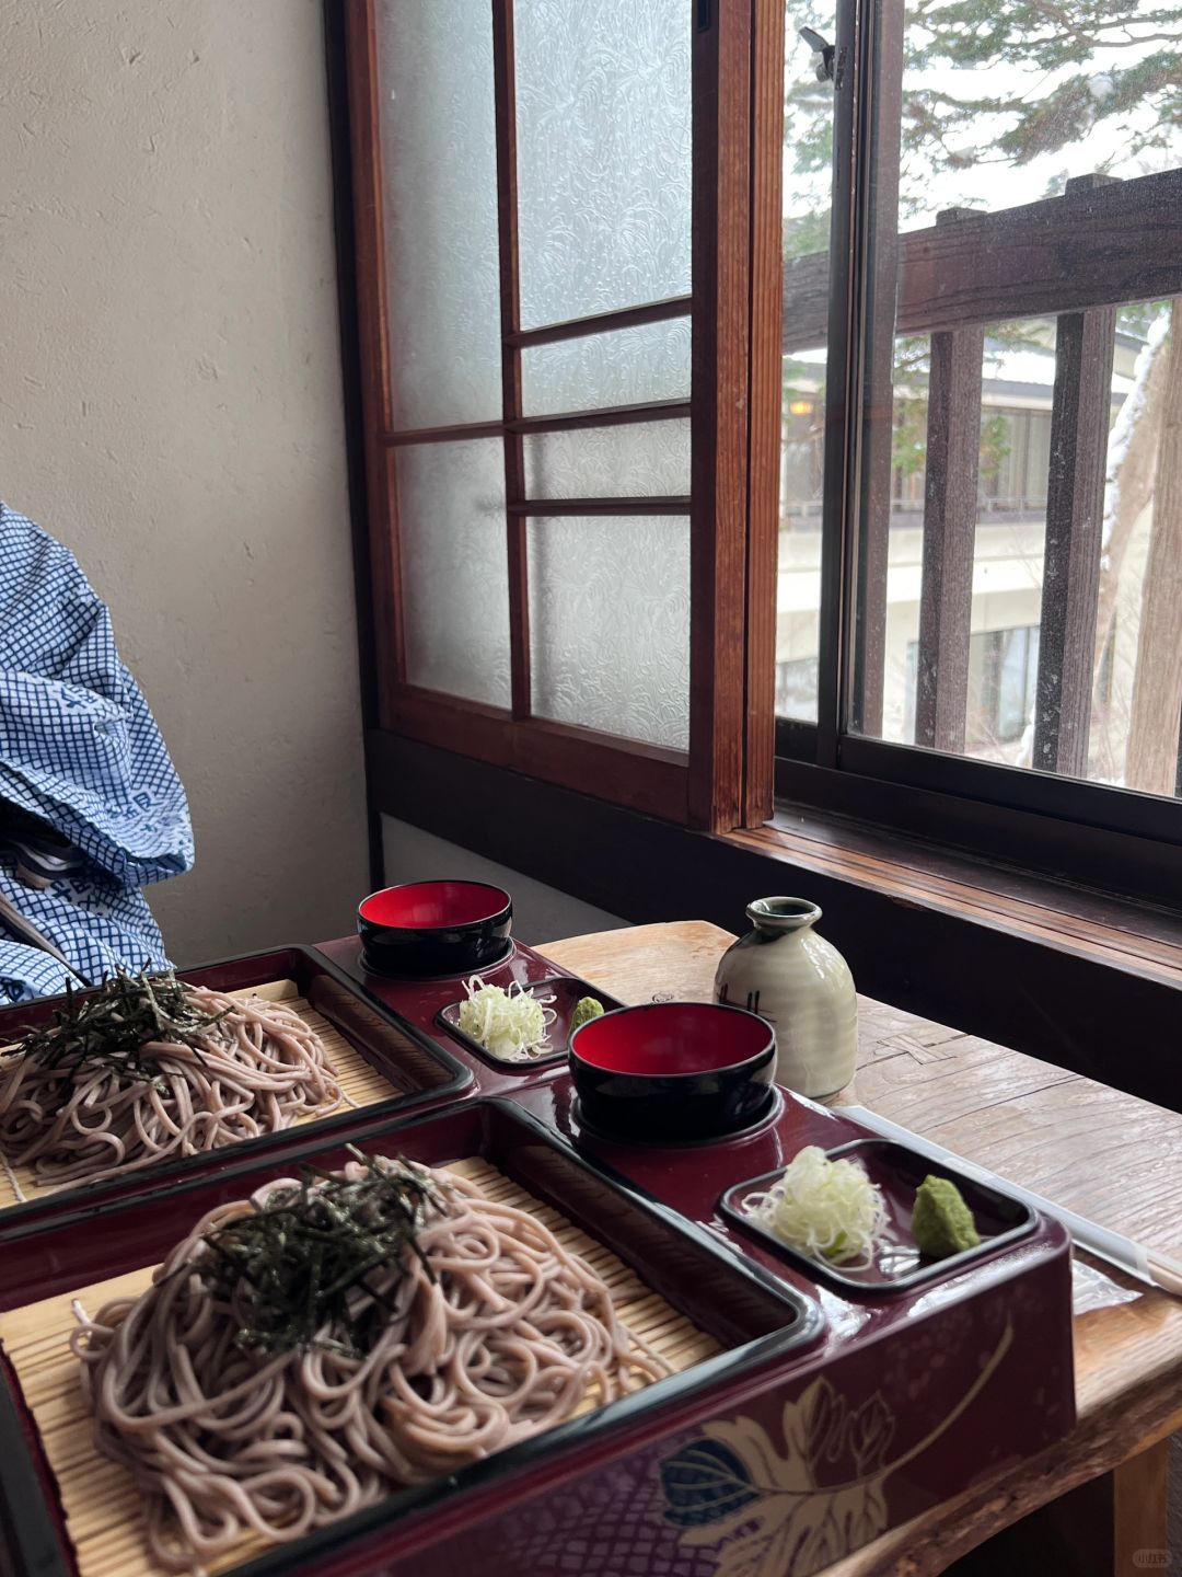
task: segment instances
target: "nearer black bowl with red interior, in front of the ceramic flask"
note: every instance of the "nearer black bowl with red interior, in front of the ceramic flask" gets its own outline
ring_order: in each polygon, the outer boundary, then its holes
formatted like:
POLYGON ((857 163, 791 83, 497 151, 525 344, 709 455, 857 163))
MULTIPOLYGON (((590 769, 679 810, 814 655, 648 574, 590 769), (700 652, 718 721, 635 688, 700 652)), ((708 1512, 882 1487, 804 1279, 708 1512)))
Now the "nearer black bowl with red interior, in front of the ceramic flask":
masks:
POLYGON ((745 1008, 654 1001, 571 1036, 583 1123, 619 1139, 723 1139, 774 1102, 775 1030, 745 1008))

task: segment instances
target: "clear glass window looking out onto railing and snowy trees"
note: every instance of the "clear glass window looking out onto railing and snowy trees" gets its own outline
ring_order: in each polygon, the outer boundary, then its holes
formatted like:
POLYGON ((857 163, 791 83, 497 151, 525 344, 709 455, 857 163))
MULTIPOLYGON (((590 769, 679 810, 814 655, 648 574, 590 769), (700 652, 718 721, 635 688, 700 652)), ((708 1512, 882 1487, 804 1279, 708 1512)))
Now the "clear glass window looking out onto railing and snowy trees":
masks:
POLYGON ((1182 13, 788 0, 785 41, 779 639, 820 681, 777 669, 777 782, 1177 841, 1182 13))

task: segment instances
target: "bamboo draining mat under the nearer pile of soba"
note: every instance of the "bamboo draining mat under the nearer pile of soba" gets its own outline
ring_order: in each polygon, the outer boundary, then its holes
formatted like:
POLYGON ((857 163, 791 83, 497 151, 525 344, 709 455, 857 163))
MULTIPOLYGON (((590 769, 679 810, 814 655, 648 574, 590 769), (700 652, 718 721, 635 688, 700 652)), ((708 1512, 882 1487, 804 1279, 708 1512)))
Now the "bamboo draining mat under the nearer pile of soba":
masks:
MULTIPOLYGON (((649 1292, 641 1281, 600 1243, 580 1232, 556 1210, 526 1194, 481 1158, 452 1162, 448 1170, 471 1178, 489 1199, 530 1211, 602 1276, 616 1298, 619 1318, 640 1340, 679 1374, 720 1351, 712 1336, 649 1292)), ((151 1269, 129 1271, 80 1292, 46 1298, 0 1315, 0 1342, 16 1369, 20 1389, 57 1479, 66 1527, 74 1544, 80 1577, 158 1577, 162 1568, 148 1556, 140 1533, 139 1495, 131 1476, 99 1456, 79 1385, 79 1363, 69 1351, 76 1326, 71 1304, 77 1298, 95 1315, 110 1298, 134 1296, 151 1282, 151 1269)), ((588 1399, 583 1408, 594 1407, 588 1399)), ((208 1568, 225 1571, 257 1555, 265 1541, 247 1534, 232 1555, 208 1568)))

